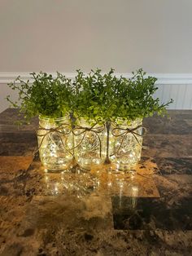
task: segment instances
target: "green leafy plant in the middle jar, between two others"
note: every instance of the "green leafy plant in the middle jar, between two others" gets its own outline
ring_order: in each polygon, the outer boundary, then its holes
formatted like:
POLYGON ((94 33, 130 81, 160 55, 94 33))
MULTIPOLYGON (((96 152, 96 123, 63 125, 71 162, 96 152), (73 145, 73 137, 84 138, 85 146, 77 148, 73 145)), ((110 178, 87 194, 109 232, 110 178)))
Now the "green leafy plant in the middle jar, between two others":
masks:
POLYGON ((97 69, 85 76, 81 70, 77 70, 73 104, 75 117, 83 117, 94 123, 105 123, 113 118, 116 110, 114 86, 118 79, 112 73, 113 69, 106 74, 97 69))

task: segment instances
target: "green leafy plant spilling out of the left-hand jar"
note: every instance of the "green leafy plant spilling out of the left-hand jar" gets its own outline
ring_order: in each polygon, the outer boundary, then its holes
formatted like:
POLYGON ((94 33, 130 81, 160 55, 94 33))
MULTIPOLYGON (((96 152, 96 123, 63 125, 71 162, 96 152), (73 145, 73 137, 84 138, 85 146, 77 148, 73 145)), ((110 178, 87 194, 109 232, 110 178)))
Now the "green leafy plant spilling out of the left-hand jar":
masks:
POLYGON ((71 110, 71 80, 57 73, 56 77, 47 73, 31 73, 33 82, 24 82, 17 77, 8 86, 19 91, 18 100, 13 102, 10 95, 7 100, 14 108, 20 108, 26 121, 32 117, 64 117, 71 110))

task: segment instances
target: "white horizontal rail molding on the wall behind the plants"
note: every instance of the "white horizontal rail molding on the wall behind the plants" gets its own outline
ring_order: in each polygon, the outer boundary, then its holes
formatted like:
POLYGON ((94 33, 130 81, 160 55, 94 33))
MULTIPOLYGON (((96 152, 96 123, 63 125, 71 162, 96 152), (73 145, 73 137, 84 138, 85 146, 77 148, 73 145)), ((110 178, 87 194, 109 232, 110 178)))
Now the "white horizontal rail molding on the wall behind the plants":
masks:
MULTIPOLYGON (((51 73, 54 77, 56 73, 51 73)), ((63 74, 66 77, 74 78, 76 76, 76 73, 64 73, 63 74)), ((31 80, 31 75, 29 73, 0 73, 0 84, 7 84, 9 82, 13 82, 16 77, 20 77, 24 80, 31 80)), ((116 73, 116 77, 120 77, 122 75, 123 77, 131 77, 132 75, 130 73, 116 73)), ((150 76, 154 76, 158 78, 158 81, 156 84, 158 85, 192 85, 192 73, 150 73, 148 74, 150 76)))

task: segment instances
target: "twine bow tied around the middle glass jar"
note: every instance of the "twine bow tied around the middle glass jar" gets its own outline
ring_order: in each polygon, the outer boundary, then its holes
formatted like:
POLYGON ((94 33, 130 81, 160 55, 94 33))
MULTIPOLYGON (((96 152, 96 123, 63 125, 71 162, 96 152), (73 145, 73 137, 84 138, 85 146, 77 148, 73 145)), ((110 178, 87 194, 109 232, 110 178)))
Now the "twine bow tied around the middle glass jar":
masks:
MULTIPOLYGON (((94 125, 96 126, 96 124, 94 125)), ((98 141, 99 141, 99 156, 102 157, 102 142, 101 142, 101 139, 99 137, 98 134, 100 134, 101 132, 103 132, 103 130, 105 129, 105 126, 98 126, 98 127, 94 127, 94 126, 91 126, 91 127, 83 127, 83 126, 76 126, 73 130, 72 130, 72 134, 75 135, 75 136, 79 136, 79 135, 83 135, 83 137, 81 138, 81 141, 80 143, 78 143, 76 145, 76 147, 72 148, 72 149, 75 149, 77 147, 79 147, 81 145, 81 143, 83 142, 83 140, 85 139, 85 135, 88 131, 91 131, 93 132, 95 135, 97 135, 98 137, 98 141), (76 130, 82 130, 81 132, 79 133, 76 133, 76 130)))

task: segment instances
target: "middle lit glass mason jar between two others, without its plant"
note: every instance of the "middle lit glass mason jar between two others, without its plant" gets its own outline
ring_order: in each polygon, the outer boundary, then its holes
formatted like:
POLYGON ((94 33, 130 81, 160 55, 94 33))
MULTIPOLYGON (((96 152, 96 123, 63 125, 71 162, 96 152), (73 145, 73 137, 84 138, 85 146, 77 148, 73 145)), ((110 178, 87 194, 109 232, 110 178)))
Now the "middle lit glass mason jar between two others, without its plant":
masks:
POLYGON ((105 126, 91 125, 81 118, 73 131, 76 162, 86 170, 103 164, 105 160, 105 126))

